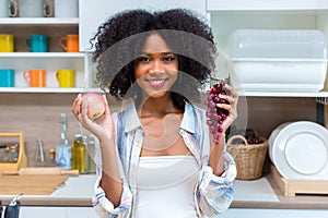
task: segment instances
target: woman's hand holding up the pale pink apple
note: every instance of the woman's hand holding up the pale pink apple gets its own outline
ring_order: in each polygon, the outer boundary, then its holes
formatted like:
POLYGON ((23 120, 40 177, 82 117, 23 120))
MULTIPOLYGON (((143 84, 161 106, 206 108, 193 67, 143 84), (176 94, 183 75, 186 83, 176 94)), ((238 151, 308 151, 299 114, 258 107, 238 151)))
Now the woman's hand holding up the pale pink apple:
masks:
POLYGON ((72 112, 83 128, 92 132, 99 141, 115 141, 115 130, 109 111, 108 102, 104 96, 105 112, 101 118, 92 120, 87 116, 87 102, 83 99, 82 94, 79 94, 72 107, 72 112))

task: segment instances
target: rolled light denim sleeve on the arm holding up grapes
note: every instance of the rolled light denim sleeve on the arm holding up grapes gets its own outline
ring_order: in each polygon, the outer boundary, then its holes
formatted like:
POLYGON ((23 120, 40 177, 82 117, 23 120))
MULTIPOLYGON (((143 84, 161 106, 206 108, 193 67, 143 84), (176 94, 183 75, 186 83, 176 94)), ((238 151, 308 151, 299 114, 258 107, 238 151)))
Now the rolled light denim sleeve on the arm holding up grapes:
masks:
POLYGON ((224 153, 225 171, 221 177, 213 173, 213 169, 204 166, 202 179, 197 190, 200 210, 208 217, 224 213, 231 205, 234 195, 234 180, 236 165, 229 153, 224 153))

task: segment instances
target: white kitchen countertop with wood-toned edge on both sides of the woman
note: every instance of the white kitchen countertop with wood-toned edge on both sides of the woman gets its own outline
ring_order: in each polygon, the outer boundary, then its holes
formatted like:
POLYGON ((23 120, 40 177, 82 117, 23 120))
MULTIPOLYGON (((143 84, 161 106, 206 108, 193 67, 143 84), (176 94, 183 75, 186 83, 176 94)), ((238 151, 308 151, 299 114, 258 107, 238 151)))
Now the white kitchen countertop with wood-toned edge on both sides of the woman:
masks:
MULTIPOLYGON (((95 174, 70 177, 50 195, 23 195, 20 201, 23 206, 92 207, 91 196, 95 180, 95 174)), ((0 194, 4 205, 13 197, 14 195, 0 194)), ((231 208, 326 209, 328 213, 328 196, 284 197, 272 183, 271 175, 267 175, 254 181, 236 180, 231 208)))

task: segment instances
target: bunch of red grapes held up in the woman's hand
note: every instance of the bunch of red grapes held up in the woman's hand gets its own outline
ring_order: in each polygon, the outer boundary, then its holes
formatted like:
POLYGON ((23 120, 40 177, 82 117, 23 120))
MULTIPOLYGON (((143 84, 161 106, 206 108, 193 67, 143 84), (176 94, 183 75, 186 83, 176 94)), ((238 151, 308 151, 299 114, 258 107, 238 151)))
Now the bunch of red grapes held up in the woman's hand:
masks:
POLYGON ((219 138, 223 132, 222 123, 229 114, 227 110, 216 107, 216 104, 229 104, 227 100, 219 97, 219 95, 226 95, 226 92, 224 90, 225 84, 226 81, 221 81, 207 92, 207 124, 210 128, 210 133, 213 135, 213 142, 215 145, 219 144, 219 138))

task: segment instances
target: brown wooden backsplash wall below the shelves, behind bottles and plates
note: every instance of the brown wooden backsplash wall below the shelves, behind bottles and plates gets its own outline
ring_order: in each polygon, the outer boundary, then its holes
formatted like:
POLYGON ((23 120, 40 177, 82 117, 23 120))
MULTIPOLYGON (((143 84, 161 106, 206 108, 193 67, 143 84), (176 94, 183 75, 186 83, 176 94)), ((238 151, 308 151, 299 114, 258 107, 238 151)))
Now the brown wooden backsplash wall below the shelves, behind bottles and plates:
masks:
MULTIPOLYGON (((56 145, 60 137, 59 113, 67 113, 68 133, 73 140, 75 133, 84 131, 73 117, 71 109, 77 94, 0 94, 0 132, 25 133, 27 158, 33 158, 36 140, 39 137, 46 150, 56 145)), ((247 119, 247 125, 268 137, 271 131, 282 122, 296 120, 316 120, 315 98, 265 98, 241 97, 247 102, 241 105, 238 119, 247 119)), ((109 98, 112 111, 117 111, 119 104, 109 98)))

